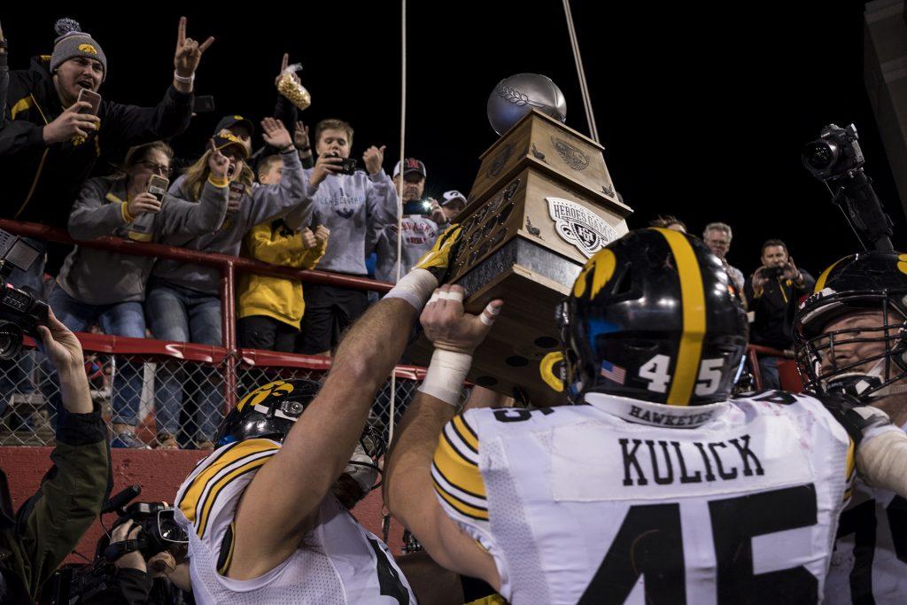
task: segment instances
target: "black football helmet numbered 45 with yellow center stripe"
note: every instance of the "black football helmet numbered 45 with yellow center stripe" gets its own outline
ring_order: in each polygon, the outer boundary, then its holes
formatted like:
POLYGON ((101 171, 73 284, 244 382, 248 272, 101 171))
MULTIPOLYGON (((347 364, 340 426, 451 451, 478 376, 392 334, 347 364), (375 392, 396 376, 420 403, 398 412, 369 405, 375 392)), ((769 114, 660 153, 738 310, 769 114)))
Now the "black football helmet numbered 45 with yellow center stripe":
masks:
POLYGON ((632 231, 600 250, 559 316, 572 403, 590 392, 724 401, 746 350, 746 312, 721 261, 670 229, 632 231))

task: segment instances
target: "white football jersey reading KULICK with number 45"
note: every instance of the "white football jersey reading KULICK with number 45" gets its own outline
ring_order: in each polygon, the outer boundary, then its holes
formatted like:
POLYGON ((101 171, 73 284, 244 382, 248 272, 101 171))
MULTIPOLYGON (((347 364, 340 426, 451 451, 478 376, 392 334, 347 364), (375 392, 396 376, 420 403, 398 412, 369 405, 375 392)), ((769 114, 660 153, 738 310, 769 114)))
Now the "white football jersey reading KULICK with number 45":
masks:
POLYGON ((853 442, 821 402, 587 402, 444 427, 438 499, 492 554, 505 599, 821 600, 853 479, 853 442))

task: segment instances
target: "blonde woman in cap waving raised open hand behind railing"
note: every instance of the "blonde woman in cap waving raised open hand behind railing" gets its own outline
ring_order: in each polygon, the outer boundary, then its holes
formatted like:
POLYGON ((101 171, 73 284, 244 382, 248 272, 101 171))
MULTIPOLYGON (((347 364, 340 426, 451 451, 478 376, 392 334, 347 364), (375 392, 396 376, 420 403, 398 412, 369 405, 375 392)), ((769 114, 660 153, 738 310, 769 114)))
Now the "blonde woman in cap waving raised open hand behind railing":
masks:
MULTIPOLYGON (((261 122, 262 138, 280 150, 283 171, 274 185, 255 185, 253 173, 246 160, 249 148, 228 131, 214 138, 215 147, 229 161, 230 201, 227 217, 220 229, 190 239, 163 243, 239 256, 246 233, 258 223, 286 216, 288 223, 298 229, 311 220, 311 204, 306 198, 302 164, 293 140, 284 125, 273 118, 261 122), (306 202, 306 203, 303 203, 306 202)), ((171 192, 197 200, 200 183, 206 178, 201 160, 173 182, 171 192)), ((161 260, 151 273, 145 313, 151 333, 161 340, 192 342, 222 346, 220 315, 220 271, 218 268, 189 262, 161 260)), ((223 417, 222 381, 214 368, 202 368, 187 376, 185 368, 170 368, 158 373, 155 396, 159 407, 179 413, 183 385, 195 392, 197 405, 194 423, 183 427, 186 436, 199 447, 210 447, 220 419, 223 417)))

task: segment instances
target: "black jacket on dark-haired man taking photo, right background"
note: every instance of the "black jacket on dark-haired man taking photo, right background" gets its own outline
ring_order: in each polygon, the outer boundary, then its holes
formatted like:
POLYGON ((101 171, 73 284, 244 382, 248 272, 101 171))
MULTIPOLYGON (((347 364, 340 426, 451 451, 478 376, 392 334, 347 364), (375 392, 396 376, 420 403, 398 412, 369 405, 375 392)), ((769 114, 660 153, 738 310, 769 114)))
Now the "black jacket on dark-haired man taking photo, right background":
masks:
POLYGON ((749 341, 754 345, 771 346, 781 350, 794 346, 794 315, 800 298, 813 291, 815 279, 805 270, 803 287, 797 288, 790 279, 769 279, 762 292, 753 289, 752 278, 746 280, 746 299, 749 310, 756 314, 749 327, 749 341))

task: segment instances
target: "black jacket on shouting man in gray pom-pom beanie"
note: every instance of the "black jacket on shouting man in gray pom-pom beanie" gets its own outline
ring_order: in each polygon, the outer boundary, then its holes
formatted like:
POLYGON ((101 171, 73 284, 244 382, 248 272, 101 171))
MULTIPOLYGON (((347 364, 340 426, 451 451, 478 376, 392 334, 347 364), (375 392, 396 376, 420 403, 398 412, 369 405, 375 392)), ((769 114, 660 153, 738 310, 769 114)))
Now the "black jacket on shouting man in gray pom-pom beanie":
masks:
POLYGON ((81 144, 66 141, 48 147, 44 125, 63 112, 50 57, 35 57, 28 70, 11 71, 0 123, 0 217, 65 227, 73 200, 102 153, 180 134, 189 126, 192 99, 191 93, 172 86, 156 107, 102 99, 98 132, 81 144))

